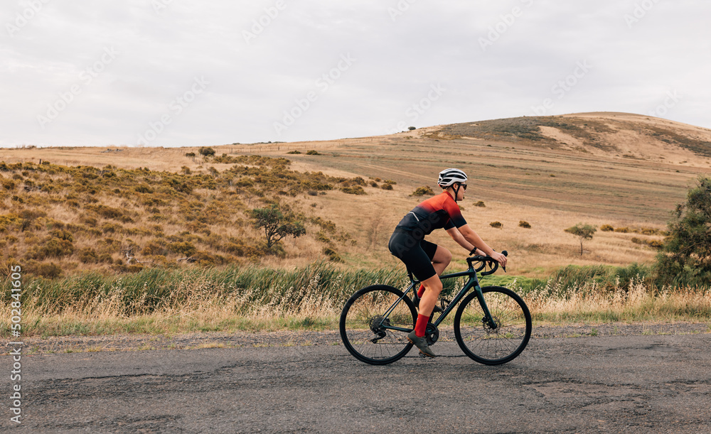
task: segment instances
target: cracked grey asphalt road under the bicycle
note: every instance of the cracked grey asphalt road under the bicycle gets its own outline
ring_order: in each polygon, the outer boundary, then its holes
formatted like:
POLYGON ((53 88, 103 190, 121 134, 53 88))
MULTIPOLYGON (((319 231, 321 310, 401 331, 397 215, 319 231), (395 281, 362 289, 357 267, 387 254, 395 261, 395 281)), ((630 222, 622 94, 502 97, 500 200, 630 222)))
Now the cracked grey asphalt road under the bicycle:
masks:
POLYGON ((22 423, 6 385, 0 430, 711 433, 709 333, 537 338, 499 367, 433 349, 384 367, 342 345, 26 356, 22 423))

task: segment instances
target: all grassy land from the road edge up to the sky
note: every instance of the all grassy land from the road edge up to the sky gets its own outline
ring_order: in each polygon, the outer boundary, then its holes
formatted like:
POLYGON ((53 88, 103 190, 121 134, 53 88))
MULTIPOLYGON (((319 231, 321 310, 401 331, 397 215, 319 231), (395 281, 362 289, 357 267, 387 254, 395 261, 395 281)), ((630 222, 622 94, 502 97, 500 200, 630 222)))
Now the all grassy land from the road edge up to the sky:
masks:
MULTIPOLYGON (((648 264, 670 212, 711 173, 710 141, 693 126, 579 114, 233 143, 215 156, 0 149, 0 271, 22 268, 23 336, 334 328, 356 288, 402 286, 392 229, 423 199, 413 193, 459 167, 471 178, 464 217, 510 252, 510 274, 485 284, 515 288, 536 322, 708 321, 707 288, 656 288, 648 264), (269 251, 251 215, 271 205, 306 234, 269 251), (577 223, 599 228, 582 255, 565 232, 577 223)), ((447 234, 430 239, 463 267, 447 234)))

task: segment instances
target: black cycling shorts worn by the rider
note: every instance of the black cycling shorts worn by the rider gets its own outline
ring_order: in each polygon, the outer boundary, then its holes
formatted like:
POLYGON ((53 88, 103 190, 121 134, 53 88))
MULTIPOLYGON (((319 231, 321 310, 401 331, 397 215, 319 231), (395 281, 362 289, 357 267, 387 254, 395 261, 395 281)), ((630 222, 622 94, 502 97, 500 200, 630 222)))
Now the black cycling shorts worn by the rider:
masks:
POLYGON ((395 229, 390 242, 387 243, 390 253, 405 263, 407 269, 415 274, 417 280, 425 281, 437 274, 432 266, 432 258, 437 251, 437 244, 424 239, 417 239, 412 232, 395 229))

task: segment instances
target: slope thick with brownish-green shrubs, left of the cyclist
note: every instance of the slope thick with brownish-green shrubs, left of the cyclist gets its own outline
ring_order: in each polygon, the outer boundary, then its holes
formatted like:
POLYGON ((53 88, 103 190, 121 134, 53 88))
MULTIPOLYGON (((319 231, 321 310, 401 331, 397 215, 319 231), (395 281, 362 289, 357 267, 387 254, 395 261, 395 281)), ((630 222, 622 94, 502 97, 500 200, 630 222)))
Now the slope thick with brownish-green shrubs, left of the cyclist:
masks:
MULTIPOLYGON (((4 268, 20 264, 28 273, 48 277, 88 269, 120 273, 259 261, 267 254, 284 254, 267 251, 250 224, 250 209, 293 207, 311 238, 331 246, 331 238, 348 241, 349 234, 293 198, 334 189, 365 194, 363 187, 374 188, 363 178, 289 170, 285 158, 211 160, 230 168, 193 173, 184 167, 171 173, 2 162, 0 260, 4 268)), ((305 253, 319 256, 319 251, 305 253)))

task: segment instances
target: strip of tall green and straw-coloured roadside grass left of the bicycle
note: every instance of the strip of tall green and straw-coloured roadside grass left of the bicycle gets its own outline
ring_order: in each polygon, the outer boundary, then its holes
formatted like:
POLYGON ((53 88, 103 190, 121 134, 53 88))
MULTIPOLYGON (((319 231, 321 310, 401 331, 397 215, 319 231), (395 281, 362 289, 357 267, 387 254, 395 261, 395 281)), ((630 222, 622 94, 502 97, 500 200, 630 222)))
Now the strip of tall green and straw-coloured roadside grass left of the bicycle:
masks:
MULTIPOLYGON (((339 271, 322 263, 37 278, 23 288, 23 335, 333 327, 348 297, 374 283, 402 286, 405 280, 397 269, 339 271)), ((4 336, 9 294, 5 288, 4 336)))

